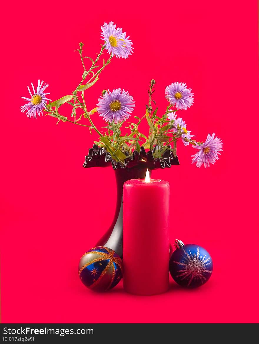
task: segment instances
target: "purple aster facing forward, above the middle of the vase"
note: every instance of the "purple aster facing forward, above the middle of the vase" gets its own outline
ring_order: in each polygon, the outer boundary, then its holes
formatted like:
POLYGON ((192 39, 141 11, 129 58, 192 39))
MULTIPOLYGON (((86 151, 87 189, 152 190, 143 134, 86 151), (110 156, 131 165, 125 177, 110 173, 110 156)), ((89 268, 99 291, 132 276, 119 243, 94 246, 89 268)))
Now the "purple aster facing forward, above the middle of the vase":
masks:
POLYGON ((106 91, 98 101, 97 111, 106 122, 118 123, 128 119, 135 107, 133 97, 120 88, 114 89, 112 92, 106 91))

